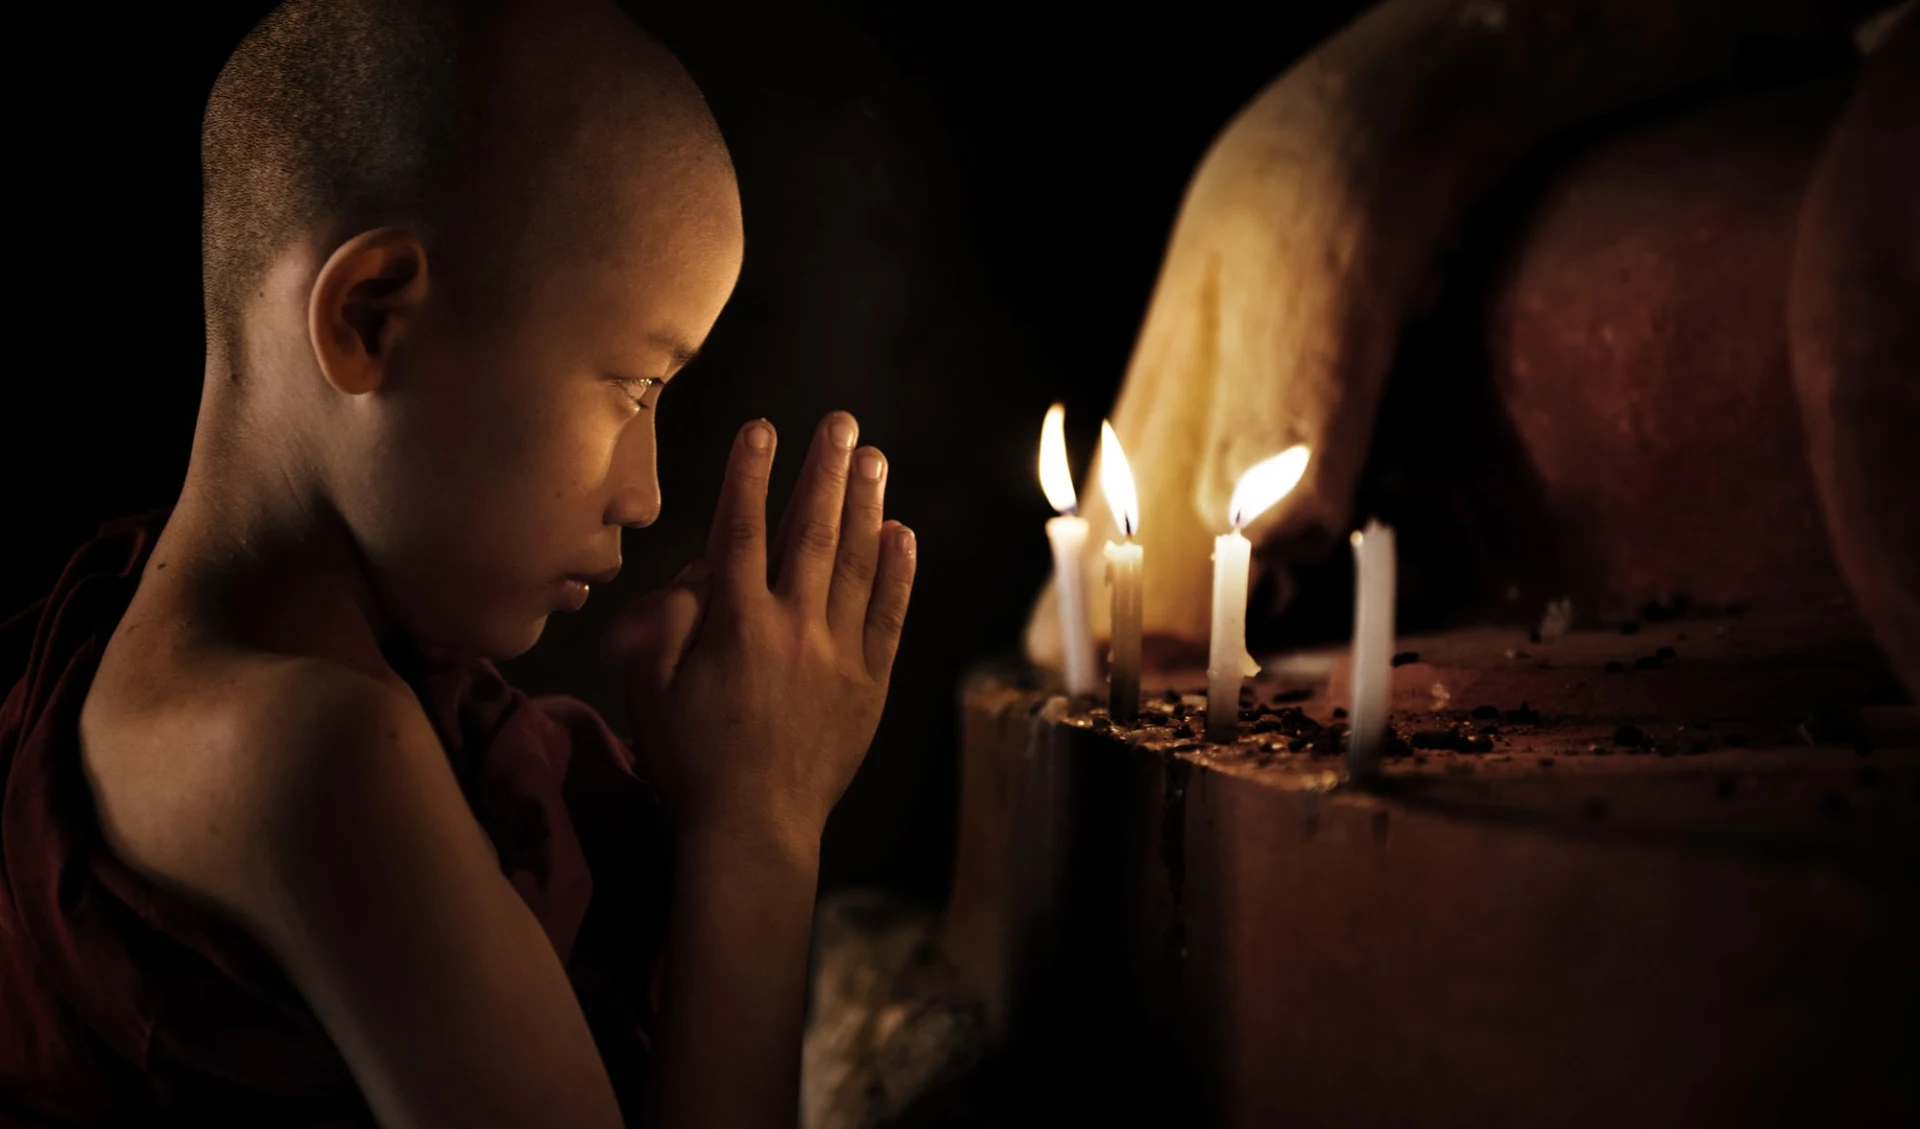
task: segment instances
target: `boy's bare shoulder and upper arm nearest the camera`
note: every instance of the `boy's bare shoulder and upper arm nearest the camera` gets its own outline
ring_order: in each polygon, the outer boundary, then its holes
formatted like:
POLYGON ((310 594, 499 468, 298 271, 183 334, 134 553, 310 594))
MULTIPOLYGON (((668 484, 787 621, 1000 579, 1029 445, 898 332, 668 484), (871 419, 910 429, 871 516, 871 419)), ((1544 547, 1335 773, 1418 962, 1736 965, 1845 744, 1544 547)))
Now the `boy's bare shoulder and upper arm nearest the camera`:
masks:
POLYGON ((405 684, 204 662, 100 732, 115 849, 278 958, 382 1125, 618 1125, 561 958, 405 684))

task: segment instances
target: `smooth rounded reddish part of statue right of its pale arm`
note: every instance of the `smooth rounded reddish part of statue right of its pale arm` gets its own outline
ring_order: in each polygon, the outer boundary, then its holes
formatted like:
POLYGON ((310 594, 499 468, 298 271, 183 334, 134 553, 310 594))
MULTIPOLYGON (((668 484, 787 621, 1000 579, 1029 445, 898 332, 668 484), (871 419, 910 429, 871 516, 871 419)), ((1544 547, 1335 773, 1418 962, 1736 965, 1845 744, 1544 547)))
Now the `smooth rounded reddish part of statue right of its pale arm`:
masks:
POLYGON ((1488 357, 1582 609, 1843 591, 1786 334, 1795 217, 1843 98, 1830 81, 1628 129, 1524 213, 1488 357))

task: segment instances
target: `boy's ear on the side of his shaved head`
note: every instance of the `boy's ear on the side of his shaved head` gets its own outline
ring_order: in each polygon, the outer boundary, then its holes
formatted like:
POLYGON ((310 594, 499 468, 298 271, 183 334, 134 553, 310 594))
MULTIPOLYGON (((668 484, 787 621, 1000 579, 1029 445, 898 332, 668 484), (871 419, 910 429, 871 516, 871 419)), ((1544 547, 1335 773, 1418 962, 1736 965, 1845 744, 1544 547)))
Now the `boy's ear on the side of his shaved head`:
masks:
POLYGON ((382 227, 340 244, 307 301, 307 336, 326 382, 349 396, 380 388, 394 340, 422 301, 426 248, 413 232, 382 227))

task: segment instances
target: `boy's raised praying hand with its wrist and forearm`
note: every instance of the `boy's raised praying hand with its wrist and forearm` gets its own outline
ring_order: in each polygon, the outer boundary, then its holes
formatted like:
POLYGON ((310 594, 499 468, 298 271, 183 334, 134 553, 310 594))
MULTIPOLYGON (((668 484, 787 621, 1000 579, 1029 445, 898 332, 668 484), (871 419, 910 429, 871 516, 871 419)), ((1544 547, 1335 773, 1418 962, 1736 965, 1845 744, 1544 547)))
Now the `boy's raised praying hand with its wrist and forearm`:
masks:
POLYGON ((820 420, 768 584, 774 430, 741 428, 705 582, 624 628, 634 732, 674 820, 651 1125, 793 1129, 820 828, 860 768, 900 645, 914 538, 883 522, 885 459, 820 420))

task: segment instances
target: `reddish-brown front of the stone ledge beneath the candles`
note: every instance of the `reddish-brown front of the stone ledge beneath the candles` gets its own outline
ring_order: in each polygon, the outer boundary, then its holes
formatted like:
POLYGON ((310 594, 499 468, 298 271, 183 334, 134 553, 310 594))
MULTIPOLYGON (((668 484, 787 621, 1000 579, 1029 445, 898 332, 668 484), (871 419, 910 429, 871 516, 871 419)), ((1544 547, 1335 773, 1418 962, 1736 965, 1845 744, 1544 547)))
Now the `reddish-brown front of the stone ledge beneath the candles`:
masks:
POLYGON ((1574 757, 1542 722, 1371 795, 1000 676, 964 707, 945 949, 1083 1119, 1920 1116, 1914 751, 1574 757))

